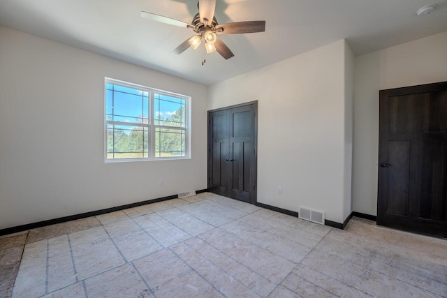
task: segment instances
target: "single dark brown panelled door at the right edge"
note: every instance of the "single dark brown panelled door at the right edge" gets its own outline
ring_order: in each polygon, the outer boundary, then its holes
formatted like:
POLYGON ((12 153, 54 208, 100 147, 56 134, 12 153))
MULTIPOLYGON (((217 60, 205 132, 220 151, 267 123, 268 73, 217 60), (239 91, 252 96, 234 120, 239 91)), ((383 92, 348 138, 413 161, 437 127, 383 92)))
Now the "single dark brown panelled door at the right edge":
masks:
POLYGON ((447 82, 380 91, 377 224, 447 237, 447 82))

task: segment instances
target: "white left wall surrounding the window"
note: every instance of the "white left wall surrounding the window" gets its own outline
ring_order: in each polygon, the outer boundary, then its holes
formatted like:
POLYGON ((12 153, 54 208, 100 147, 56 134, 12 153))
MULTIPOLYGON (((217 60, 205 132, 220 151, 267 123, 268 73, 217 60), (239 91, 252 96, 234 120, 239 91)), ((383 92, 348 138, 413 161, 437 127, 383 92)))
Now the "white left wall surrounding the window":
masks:
POLYGON ((206 90, 0 27, 0 229, 206 188, 206 90), (192 158, 104 163, 104 77, 191 96, 192 158))

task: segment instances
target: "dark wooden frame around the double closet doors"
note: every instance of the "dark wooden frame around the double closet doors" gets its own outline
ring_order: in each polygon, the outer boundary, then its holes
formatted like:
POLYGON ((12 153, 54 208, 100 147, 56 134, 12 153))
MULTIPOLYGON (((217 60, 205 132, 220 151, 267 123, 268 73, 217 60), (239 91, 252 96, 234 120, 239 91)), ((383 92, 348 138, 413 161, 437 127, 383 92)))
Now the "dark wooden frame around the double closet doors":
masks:
POLYGON ((210 188, 210 173, 211 173, 211 164, 212 164, 212 156, 210 155, 211 148, 210 148, 210 140, 212 137, 212 131, 210 128, 210 114, 213 112, 219 112, 223 110, 230 110, 235 107, 244 107, 247 105, 253 105, 254 106, 254 195, 251 198, 251 201, 249 203, 251 204, 257 204, 258 203, 258 100, 249 101, 247 103, 240 103, 237 105, 230 105, 226 107, 219 107, 214 110, 208 110, 207 111, 207 188, 210 188))

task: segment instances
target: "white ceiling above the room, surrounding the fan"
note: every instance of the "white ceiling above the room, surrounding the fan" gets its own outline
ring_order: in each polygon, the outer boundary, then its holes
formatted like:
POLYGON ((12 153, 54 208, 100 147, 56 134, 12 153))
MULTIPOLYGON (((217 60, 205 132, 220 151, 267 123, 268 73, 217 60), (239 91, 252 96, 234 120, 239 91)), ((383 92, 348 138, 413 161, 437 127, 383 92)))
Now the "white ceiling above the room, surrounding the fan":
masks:
POLYGON ((201 50, 171 53, 191 29, 141 10, 190 23, 197 0, 0 0, 0 25, 205 85, 342 38, 365 54, 447 31, 447 0, 217 0, 219 24, 265 20, 265 32, 219 36, 235 57, 214 52, 202 66, 201 50), (417 17, 428 4, 437 9, 417 17))

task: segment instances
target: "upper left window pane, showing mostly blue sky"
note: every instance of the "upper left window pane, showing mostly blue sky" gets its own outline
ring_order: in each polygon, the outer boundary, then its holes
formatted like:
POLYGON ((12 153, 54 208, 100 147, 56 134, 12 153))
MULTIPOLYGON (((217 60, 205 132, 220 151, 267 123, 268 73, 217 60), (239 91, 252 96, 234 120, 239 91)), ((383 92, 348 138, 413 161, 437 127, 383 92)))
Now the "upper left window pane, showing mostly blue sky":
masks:
POLYGON ((107 84, 105 91, 105 112, 108 121, 149 123, 147 91, 107 84))

